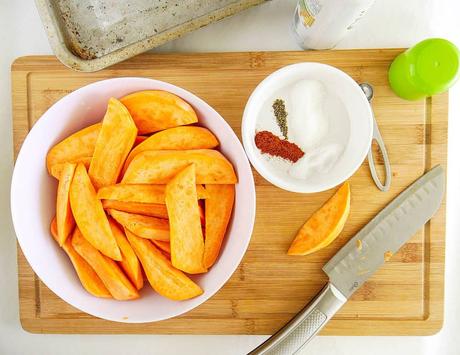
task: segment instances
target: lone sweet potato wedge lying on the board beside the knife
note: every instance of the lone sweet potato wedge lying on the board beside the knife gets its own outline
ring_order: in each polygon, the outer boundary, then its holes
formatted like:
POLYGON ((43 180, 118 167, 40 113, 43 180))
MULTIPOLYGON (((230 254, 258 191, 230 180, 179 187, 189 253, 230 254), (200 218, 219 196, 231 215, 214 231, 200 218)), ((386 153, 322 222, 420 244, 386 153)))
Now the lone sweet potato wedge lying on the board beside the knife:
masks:
POLYGON ((350 184, 337 192, 300 228, 289 255, 307 255, 328 246, 342 231, 350 213, 350 184))

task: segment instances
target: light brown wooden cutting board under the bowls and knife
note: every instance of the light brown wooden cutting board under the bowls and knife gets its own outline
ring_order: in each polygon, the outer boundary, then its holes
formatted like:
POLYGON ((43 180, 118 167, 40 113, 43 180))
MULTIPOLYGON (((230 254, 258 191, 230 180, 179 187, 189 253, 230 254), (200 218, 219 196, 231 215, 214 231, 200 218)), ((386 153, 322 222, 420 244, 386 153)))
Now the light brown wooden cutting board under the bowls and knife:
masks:
MULTIPOLYGON (((257 217, 249 249, 227 284, 210 300, 174 319, 122 324, 69 306, 33 273, 18 248, 20 318, 36 333, 272 334, 326 283, 321 267, 413 180, 446 165, 447 94, 426 101, 397 98, 387 69, 401 50, 146 54, 96 73, 76 73, 51 56, 23 57, 12 66, 14 147, 56 100, 112 77, 164 80, 197 94, 240 135, 245 103, 255 86, 287 64, 334 65, 374 86, 375 110, 393 168, 387 193, 373 184, 367 162, 351 179, 351 215, 329 247, 309 256, 286 250, 297 229, 333 193, 280 190, 254 172, 257 217)), ((379 162, 381 163, 381 162, 379 162)), ((426 335, 443 320, 445 206, 386 263, 322 331, 324 335, 426 335)))

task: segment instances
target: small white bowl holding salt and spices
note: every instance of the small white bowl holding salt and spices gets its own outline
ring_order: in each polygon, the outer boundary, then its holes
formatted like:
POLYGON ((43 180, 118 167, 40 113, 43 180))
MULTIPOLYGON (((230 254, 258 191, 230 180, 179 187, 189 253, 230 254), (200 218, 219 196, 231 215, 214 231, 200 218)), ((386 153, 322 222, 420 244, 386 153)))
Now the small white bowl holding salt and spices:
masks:
MULTIPOLYGON (((288 113, 289 119, 289 113, 288 113)), ((243 145, 254 168, 272 184, 293 192, 313 193, 330 189, 347 180, 364 161, 372 141, 372 112, 359 85, 346 73, 321 63, 298 63, 281 68, 265 78, 251 94, 242 122, 243 145), (302 79, 318 80, 341 102, 349 119, 349 139, 334 167, 308 179, 294 178, 269 165, 254 143, 259 113, 268 112, 276 92, 302 79)), ((306 153, 308 154, 308 153, 306 153)))

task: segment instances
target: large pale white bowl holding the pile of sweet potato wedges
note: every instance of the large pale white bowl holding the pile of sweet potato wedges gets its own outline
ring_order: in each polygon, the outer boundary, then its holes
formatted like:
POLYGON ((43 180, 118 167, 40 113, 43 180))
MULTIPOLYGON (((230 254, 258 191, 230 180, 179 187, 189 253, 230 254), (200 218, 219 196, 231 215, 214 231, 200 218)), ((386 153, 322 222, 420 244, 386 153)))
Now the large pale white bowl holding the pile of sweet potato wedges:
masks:
POLYGON ((35 124, 19 152, 11 184, 11 211, 16 235, 27 261, 54 293, 72 306, 96 317, 127 323, 159 321, 195 308, 216 293, 236 270, 251 238, 255 216, 255 189, 250 164, 237 136, 207 103, 174 85, 144 78, 118 78, 82 87, 56 102, 35 124), (158 89, 189 102, 199 122, 220 141, 220 150, 233 163, 239 182, 233 217, 221 255, 212 269, 192 278, 204 293, 191 300, 170 301, 148 283, 134 301, 100 299, 88 294, 64 251, 50 236, 55 214, 56 180, 45 168, 48 150, 69 134, 103 117, 110 97, 158 89))

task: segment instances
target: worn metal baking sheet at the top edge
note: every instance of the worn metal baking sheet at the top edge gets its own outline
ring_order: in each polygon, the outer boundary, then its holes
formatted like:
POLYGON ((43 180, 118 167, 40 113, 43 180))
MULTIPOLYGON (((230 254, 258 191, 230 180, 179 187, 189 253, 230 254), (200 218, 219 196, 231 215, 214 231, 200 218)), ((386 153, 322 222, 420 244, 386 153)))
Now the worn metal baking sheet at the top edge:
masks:
POLYGON ((266 0, 36 0, 59 60, 96 71, 266 0))

